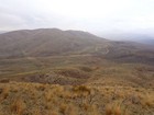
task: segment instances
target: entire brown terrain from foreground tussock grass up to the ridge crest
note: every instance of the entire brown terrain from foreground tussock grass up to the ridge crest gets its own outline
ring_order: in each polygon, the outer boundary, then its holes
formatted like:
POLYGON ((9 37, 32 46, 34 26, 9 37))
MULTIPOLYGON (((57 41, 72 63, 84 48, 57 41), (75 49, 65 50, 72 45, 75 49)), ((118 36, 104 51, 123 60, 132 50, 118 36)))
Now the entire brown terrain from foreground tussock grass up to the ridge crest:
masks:
POLYGON ((154 47, 81 31, 0 34, 0 114, 153 115, 154 47))

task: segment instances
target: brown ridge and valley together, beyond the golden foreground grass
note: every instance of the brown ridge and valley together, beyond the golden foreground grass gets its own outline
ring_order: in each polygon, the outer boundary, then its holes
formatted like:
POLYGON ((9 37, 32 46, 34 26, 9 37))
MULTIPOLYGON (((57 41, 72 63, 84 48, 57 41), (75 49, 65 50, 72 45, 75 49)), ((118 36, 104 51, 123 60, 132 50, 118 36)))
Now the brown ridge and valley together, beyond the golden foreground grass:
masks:
POLYGON ((108 41, 87 32, 40 28, 0 34, 0 78, 19 80, 19 77, 25 77, 23 81, 81 84, 89 78, 99 78, 99 81, 103 76, 102 79, 107 80, 111 74, 109 78, 116 81, 124 74, 130 83, 140 81, 140 84, 150 85, 153 69, 148 70, 146 65, 154 66, 154 47, 108 41), (139 74, 133 73, 138 71, 135 67, 141 68, 139 74), (147 73, 148 79, 139 77, 141 72, 147 73), (51 74, 46 77, 46 73, 51 74))

